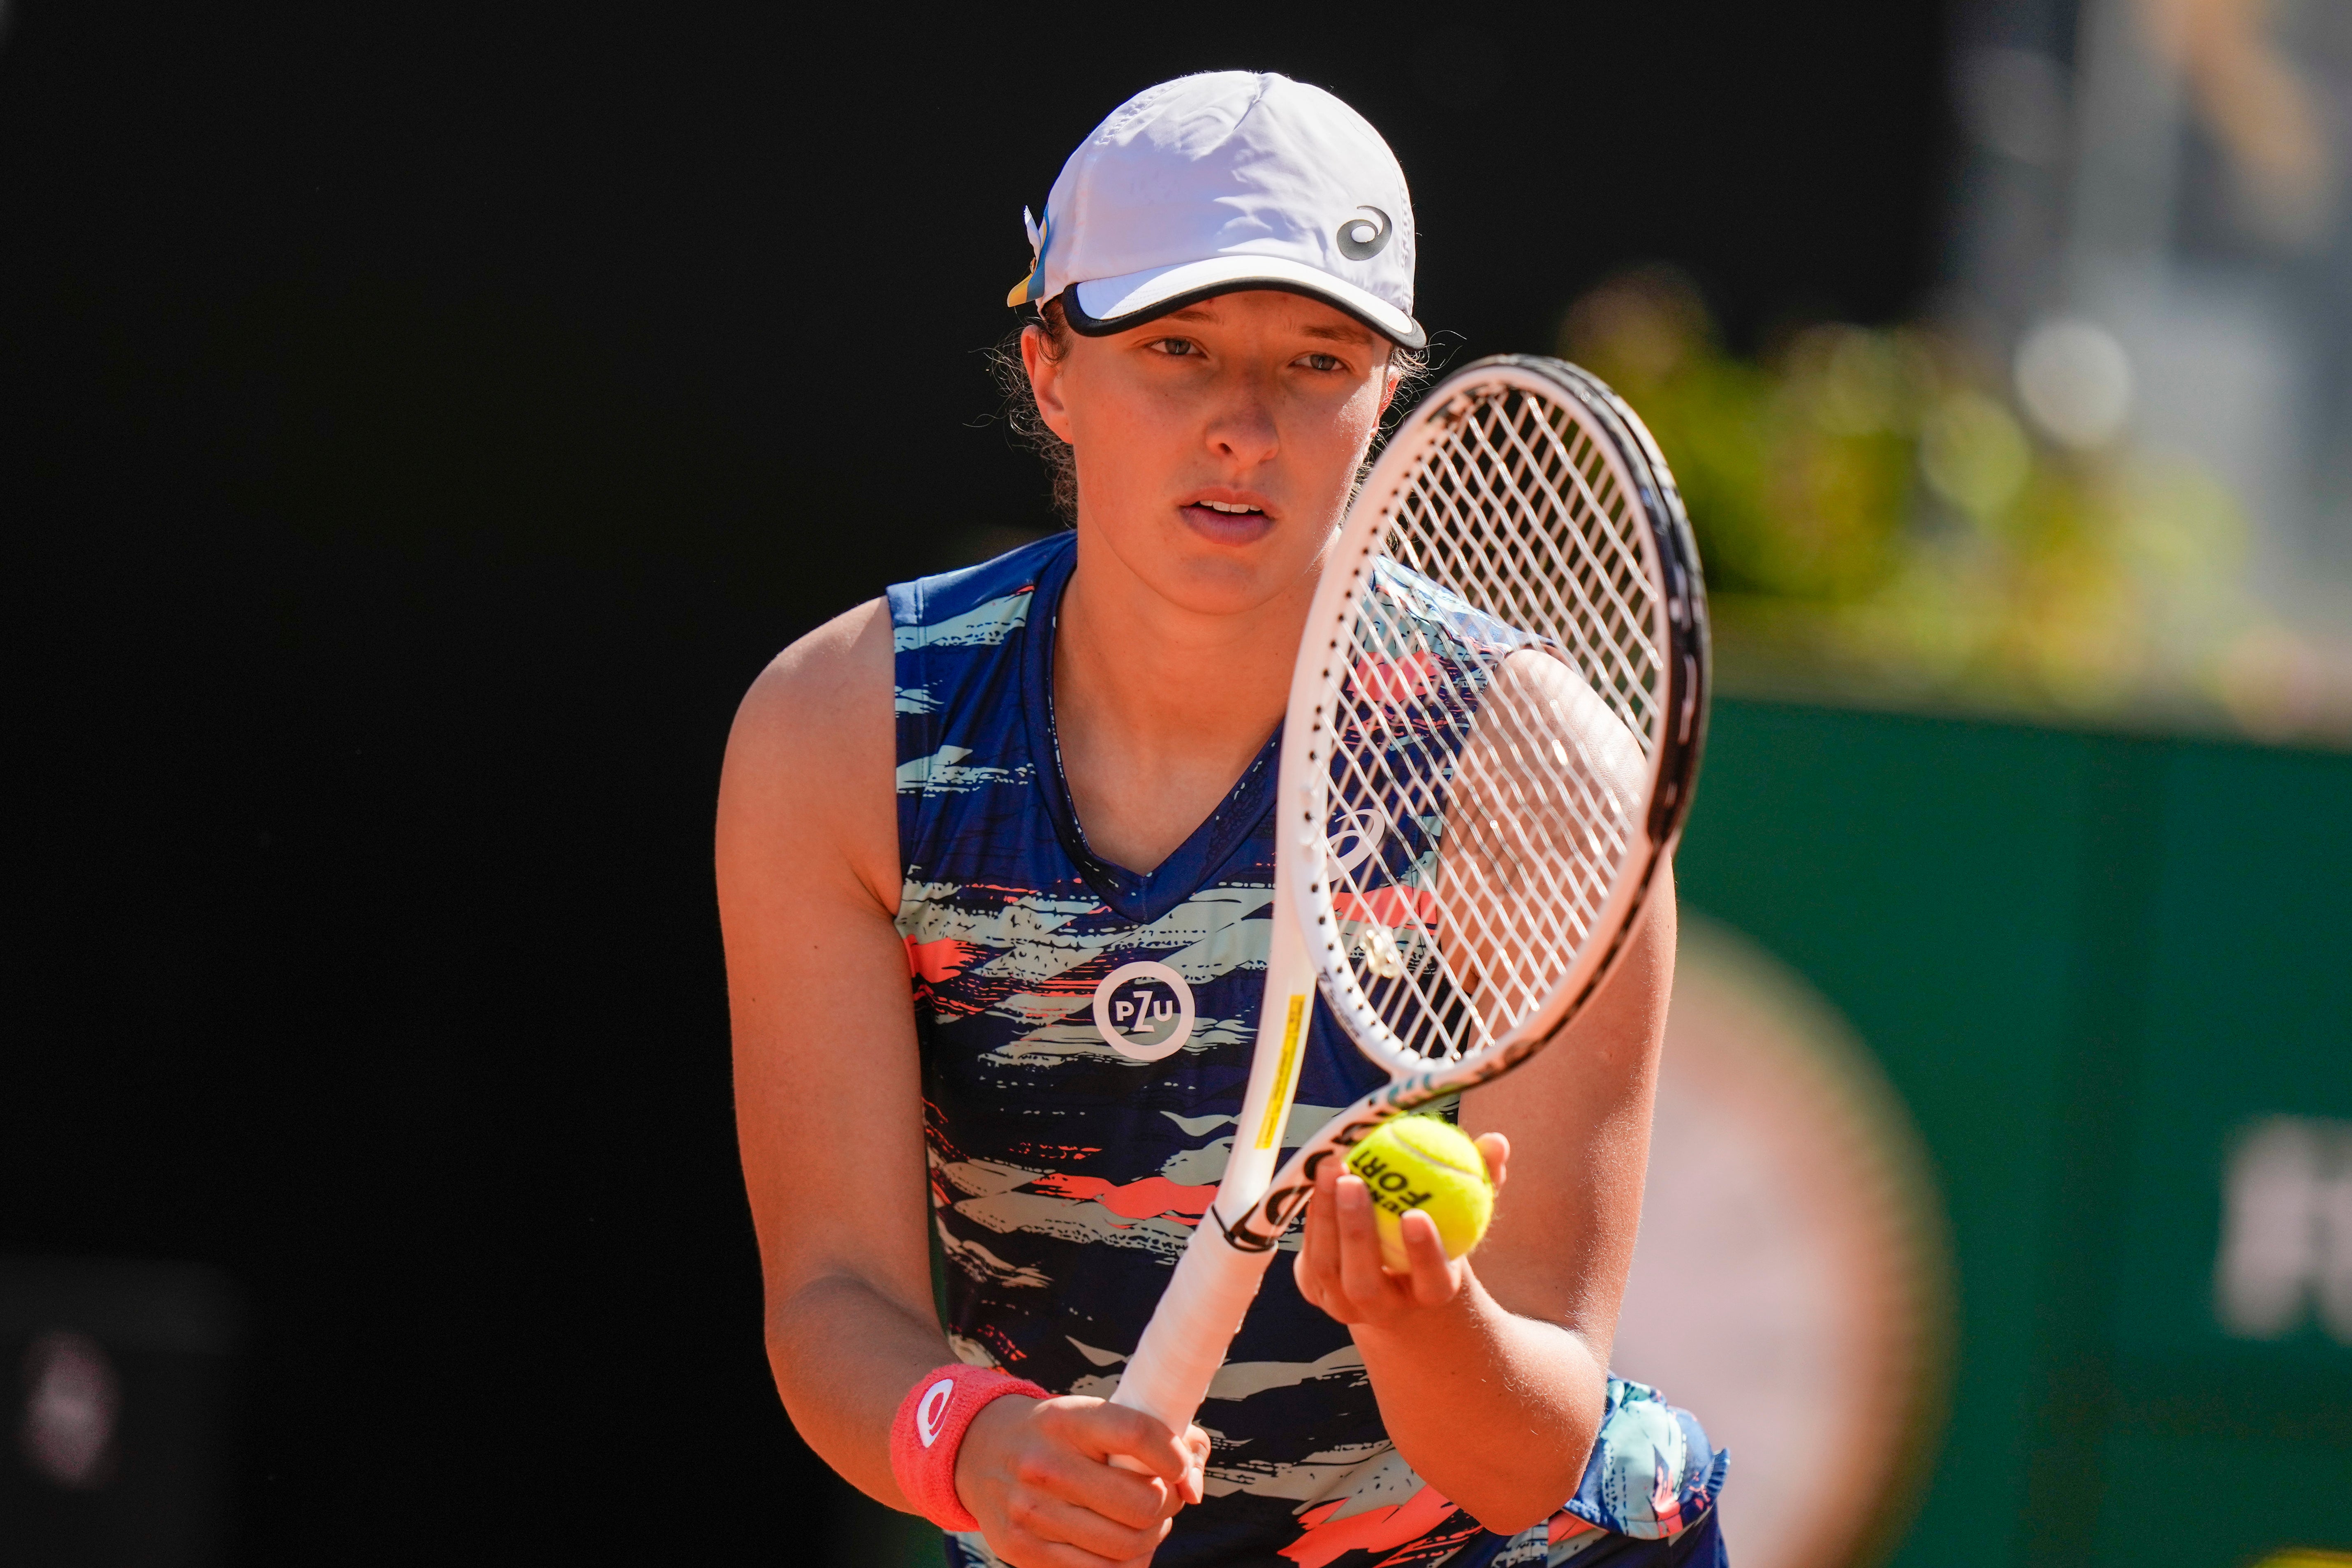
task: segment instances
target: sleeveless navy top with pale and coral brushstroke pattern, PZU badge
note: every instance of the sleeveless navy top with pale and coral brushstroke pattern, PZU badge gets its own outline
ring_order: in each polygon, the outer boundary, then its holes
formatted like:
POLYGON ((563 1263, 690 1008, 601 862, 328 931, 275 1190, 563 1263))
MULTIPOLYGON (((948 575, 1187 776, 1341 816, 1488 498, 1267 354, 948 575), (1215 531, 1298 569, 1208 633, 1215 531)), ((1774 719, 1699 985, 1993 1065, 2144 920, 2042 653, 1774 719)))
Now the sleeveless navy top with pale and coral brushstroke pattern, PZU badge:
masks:
MULTIPOLYGON (((1054 616, 1075 545, 1061 534, 889 590, 898 933, 948 1338, 964 1361, 1108 1396, 1216 1194, 1242 1107, 1277 741, 1152 872, 1091 853, 1054 736, 1054 616)), ((1284 1143, 1383 1079, 1317 1004, 1284 1143)), ((1517 1537, 1482 1530, 1390 1446, 1348 1328, 1279 1258, 1200 1425, 1209 1497, 1176 1516, 1160 1568, 1613 1566, 1677 1535, 1684 1561, 1722 1469, 1689 1415, 1611 1382, 1578 1497, 1517 1537)), ((948 1552, 995 1563, 978 1535, 948 1552)))

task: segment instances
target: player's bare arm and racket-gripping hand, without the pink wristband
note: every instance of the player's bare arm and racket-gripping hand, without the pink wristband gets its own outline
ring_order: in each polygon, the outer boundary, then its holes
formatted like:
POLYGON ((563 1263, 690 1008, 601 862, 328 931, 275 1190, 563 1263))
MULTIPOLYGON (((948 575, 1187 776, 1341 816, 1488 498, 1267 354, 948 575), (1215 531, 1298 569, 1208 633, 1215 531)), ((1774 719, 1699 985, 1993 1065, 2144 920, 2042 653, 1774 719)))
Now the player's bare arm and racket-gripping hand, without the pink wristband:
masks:
MULTIPOLYGON (((717 886, 736 1138, 767 1286, 767 1354, 807 1443, 896 1509, 889 1427, 953 1361, 931 1307, 922 1074, 898 905, 891 625, 880 602, 753 684, 720 780, 717 886)), ((1098 1399, 1000 1399, 957 1493, 1021 1568, 1141 1563, 1200 1453, 1098 1399), (1138 1458, 1152 1476, 1112 1469, 1138 1458)))

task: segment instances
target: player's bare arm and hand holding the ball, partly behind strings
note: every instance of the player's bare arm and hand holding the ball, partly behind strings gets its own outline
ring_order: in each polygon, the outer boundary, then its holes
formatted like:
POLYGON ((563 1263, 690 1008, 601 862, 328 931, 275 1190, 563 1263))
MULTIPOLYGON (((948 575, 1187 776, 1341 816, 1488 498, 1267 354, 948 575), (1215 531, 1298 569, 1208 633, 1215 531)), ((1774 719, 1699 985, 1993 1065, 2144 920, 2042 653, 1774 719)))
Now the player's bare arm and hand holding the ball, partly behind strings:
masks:
MULTIPOLYGON (((1515 759, 1557 759, 1585 818, 1597 802, 1639 795, 1639 748, 1581 684, 1564 686, 1552 661, 1522 656, 1498 677, 1479 726, 1501 745, 1465 748, 1472 790, 1534 809, 1543 790, 1515 788, 1515 759), (1571 743, 1555 752, 1550 736, 1571 743), (1576 745, 1581 741, 1581 745, 1576 745)), ((1573 677, 1571 677, 1573 679, 1573 677)), ((1550 766, 1550 764, 1548 764, 1550 766)), ((1562 795, 1555 790, 1552 802, 1562 795)), ((1564 900, 1529 903, 1505 818, 1475 802, 1449 835, 1442 893, 1510 884, 1508 905, 1555 919, 1564 900), (1451 877, 1451 886, 1446 879, 1451 877)), ((1606 813, 1604 813, 1606 816, 1606 813)), ((1649 1117, 1665 1001, 1675 976, 1672 870, 1661 867, 1649 910, 1606 985, 1576 1023, 1510 1077, 1463 1095, 1461 1121, 1510 1192, 1494 1229, 1468 1260, 1446 1262, 1437 1227, 1406 1215, 1409 1276, 1383 1274, 1364 1185, 1327 1166, 1308 1211, 1301 1291, 1350 1324, 1381 1420, 1397 1453, 1444 1497, 1494 1530, 1545 1519, 1576 1490, 1606 1401, 1609 1342, 1642 1218, 1649 1117)), ((1550 886, 1550 884, 1548 884, 1550 886)), ((1588 889, 1597 903, 1597 889, 1588 889)), ((1494 973, 1494 933, 1465 922, 1454 954, 1472 985, 1494 973)))

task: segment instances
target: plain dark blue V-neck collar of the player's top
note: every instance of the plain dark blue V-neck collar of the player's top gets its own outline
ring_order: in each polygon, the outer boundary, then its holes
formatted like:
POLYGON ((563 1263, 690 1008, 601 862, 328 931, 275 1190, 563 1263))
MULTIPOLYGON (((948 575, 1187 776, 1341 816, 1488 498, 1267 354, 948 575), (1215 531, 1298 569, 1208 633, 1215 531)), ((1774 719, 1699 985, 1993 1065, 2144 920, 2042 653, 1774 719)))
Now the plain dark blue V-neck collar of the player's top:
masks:
POLYGON ((1087 886, 1091 886, 1103 903, 1117 910, 1124 919, 1138 924, 1155 922, 1197 893, 1211 872, 1216 872, 1216 867, 1223 865, 1265 818, 1275 802, 1282 729, 1275 726, 1275 733, 1265 741, 1258 755, 1251 757, 1249 766, 1242 769, 1242 776, 1216 804, 1209 818, 1195 827, 1192 835, 1155 870, 1131 872, 1124 865, 1112 865, 1094 853, 1087 844, 1087 830, 1077 820, 1077 806, 1070 802, 1070 780, 1061 771, 1061 731, 1054 722, 1054 644, 1061 625, 1061 595, 1070 585, 1075 567, 1077 536, 1073 534, 1068 548, 1056 552, 1044 571, 1037 574, 1030 614, 1021 628, 1021 710, 1028 722, 1030 762, 1037 769, 1035 778, 1044 790, 1047 811, 1054 818, 1054 832, 1061 837, 1070 860, 1087 879, 1087 886))

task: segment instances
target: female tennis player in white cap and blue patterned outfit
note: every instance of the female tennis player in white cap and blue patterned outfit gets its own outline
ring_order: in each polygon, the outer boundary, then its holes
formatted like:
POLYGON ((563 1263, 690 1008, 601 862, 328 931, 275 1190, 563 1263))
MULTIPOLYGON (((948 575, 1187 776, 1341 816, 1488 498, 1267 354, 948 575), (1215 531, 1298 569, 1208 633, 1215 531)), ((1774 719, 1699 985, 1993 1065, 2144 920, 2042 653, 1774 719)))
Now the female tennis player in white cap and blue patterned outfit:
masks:
MULTIPOLYGON (((720 910, 793 1422, 953 1563, 1719 1563, 1724 1455, 1609 1378, 1675 961, 1661 891, 1461 1121, 1472 1258, 1381 1267, 1329 1166, 1200 1422, 1105 1403, 1225 1166, 1277 729, 1414 369, 1404 174, 1279 75, 1152 87, 1033 226, 1021 362, 1075 529, 891 588, 753 684, 720 910)), ((1317 1009, 1287 1145, 1374 1084, 1317 1009)))

